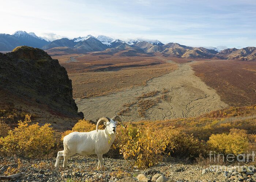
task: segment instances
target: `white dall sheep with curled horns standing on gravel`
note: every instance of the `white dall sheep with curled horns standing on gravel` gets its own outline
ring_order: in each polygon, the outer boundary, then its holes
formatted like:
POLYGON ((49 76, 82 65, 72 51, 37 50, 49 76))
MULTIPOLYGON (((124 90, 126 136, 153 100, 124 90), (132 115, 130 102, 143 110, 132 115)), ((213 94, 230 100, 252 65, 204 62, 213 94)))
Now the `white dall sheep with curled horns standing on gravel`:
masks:
POLYGON ((63 138, 64 150, 58 152, 55 167, 59 167, 60 157, 64 157, 63 167, 67 167, 68 158, 74 154, 96 154, 99 159, 98 169, 102 167, 102 155, 109 151, 110 146, 116 138, 118 122, 121 122, 123 126, 123 122, 119 116, 114 116, 112 119, 102 117, 96 124, 96 130, 90 132, 72 132, 66 135, 63 138), (104 130, 98 130, 99 124, 102 122, 104 122, 106 128, 104 130))

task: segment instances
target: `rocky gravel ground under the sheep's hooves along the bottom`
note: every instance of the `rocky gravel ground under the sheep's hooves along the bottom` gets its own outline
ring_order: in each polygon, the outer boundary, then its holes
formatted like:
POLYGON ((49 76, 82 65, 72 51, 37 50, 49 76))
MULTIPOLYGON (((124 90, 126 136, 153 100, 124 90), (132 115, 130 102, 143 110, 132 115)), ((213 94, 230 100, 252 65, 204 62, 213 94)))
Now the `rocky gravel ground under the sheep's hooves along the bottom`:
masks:
MULTIPOLYGON (((60 161, 63 162, 63 161, 60 161)), ((131 167, 123 159, 105 158, 104 167, 97 170, 94 156, 75 155, 68 168, 54 168, 55 158, 35 160, 29 158, 0 158, 0 176, 20 173, 13 181, 256 181, 256 171, 248 166, 200 166, 175 162, 162 162, 149 169, 131 167)))

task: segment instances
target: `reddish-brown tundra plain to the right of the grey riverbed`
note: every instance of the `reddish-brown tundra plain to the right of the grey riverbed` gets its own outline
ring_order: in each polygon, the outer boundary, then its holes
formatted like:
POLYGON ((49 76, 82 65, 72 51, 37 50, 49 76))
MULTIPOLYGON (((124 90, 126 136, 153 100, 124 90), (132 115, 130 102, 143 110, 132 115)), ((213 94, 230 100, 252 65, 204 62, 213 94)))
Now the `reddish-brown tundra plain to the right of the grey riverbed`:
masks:
POLYGON ((256 62, 218 60, 192 65, 196 75, 230 106, 256 104, 256 62))

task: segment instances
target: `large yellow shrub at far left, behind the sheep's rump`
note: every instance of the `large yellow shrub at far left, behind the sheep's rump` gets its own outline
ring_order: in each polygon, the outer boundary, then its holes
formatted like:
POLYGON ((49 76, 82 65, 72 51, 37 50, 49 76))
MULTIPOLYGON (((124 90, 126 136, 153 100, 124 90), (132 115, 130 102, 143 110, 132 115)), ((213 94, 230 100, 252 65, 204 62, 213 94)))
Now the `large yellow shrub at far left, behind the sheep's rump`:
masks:
POLYGON ((31 124, 30 116, 18 121, 18 127, 10 130, 8 135, 0 138, 0 150, 6 154, 24 157, 44 157, 54 146, 53 129, 50 124, 39 126, 31 124))

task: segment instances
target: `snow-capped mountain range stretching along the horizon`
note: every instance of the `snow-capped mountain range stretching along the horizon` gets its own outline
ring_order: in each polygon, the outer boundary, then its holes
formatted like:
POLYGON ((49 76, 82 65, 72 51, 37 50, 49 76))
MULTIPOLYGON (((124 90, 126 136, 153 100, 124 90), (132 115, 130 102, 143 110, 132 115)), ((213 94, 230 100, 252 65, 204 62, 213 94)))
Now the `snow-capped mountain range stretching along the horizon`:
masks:
POLYGON ((252 61, 256 60, 256 47, 241 49, 231 48, 217 50, 204 47, 189 47, 178 43, 163 44, 159 40, 129 40, 112 39, 99 35, 97 38, 92 35, 77 37, 74 39, 57 39, 49 41, 45 37, 38 37, 33 32, 16 31, 13 35, 0 34, 0 51, 10 51, 17 46, 31 46, 47 50, 49 54, 83 54, 86 52, 98 52, 99 54, 116 54, 120 56, 137 56, 141 53, 178 56, 181 58, 219 58, 239 59, 252 61))

